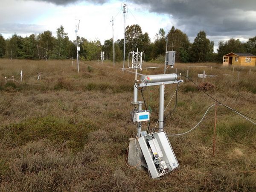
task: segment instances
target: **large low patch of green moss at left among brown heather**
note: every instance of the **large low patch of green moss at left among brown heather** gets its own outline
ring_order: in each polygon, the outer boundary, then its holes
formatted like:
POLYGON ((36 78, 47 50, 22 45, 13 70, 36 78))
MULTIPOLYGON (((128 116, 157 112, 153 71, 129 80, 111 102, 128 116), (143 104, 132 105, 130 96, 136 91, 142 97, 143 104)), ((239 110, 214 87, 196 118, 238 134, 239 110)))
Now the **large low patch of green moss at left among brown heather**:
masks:
POLYGON ((52 116, 30 119, 22 123, 0 127, 0 139, 5 139, 11 146, 19 146, 29 141, 47 138, 53 143, 67 142, 73 151, 80 150, 87 140, 87 134, 96 130, 90 121, 73 125, 52 116))

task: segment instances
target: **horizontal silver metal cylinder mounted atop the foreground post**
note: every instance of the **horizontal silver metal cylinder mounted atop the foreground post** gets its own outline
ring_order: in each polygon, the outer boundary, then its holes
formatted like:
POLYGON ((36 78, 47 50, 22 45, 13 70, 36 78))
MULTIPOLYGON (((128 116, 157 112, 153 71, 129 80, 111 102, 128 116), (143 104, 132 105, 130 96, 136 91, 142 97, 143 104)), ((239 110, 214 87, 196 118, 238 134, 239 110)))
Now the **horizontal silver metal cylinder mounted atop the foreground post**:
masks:
POLYGON ((159 74, 159 75, 144 75, 141 76, 140 81, 142 83, 158 83, 164 81, 175 81, 180 77, 180 74, 159 74))

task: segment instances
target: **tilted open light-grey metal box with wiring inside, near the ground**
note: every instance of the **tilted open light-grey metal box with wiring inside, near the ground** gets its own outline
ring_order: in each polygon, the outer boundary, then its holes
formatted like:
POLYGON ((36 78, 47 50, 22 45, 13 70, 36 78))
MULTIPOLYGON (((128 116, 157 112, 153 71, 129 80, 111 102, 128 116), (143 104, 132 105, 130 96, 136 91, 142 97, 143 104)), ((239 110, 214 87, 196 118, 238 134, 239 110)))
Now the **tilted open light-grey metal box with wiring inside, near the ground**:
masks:
POLYGON ((157 178, 177 169, 179 163, 164 131, 138 139, 151 177, 157 178), (157 154, 157 155, 156 155, 157 154))

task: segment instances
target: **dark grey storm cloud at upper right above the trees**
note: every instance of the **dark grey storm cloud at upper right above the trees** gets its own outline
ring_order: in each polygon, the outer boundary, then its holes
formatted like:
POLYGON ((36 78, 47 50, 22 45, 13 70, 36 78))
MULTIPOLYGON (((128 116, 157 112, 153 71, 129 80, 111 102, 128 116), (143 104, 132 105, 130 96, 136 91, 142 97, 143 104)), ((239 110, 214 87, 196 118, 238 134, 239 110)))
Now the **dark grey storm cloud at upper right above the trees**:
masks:
MULTIPOLYGON (((137 1, 132 0, 134 3, 137 1)), ((256 0, 140 0, 150 12, 172 15, 189 36, 256 35, 256 0)))

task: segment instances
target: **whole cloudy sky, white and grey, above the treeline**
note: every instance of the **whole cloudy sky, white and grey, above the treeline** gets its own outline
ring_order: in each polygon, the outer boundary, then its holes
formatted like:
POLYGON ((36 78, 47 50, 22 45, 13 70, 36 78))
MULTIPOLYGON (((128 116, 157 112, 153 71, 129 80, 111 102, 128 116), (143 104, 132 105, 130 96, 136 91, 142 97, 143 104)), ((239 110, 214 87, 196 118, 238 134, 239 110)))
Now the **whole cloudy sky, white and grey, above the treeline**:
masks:
MULTIPOLYGON (((126 24, 139 24, 151 41, 160 28, 166 33, 172 26, 185 32, 191 42, 200 30, 215 42, 229 38, 247 41, 256 36, 256 0, 126 0, 126 24)), ((56 35, 64 26, 75 39, 76 18, 80 20, 78 35, 89 40, 123 38, 123 1, 119 0, 0 0, 0 33, 9 38, 15 32, 26 36, 45 30, 56 35)))

